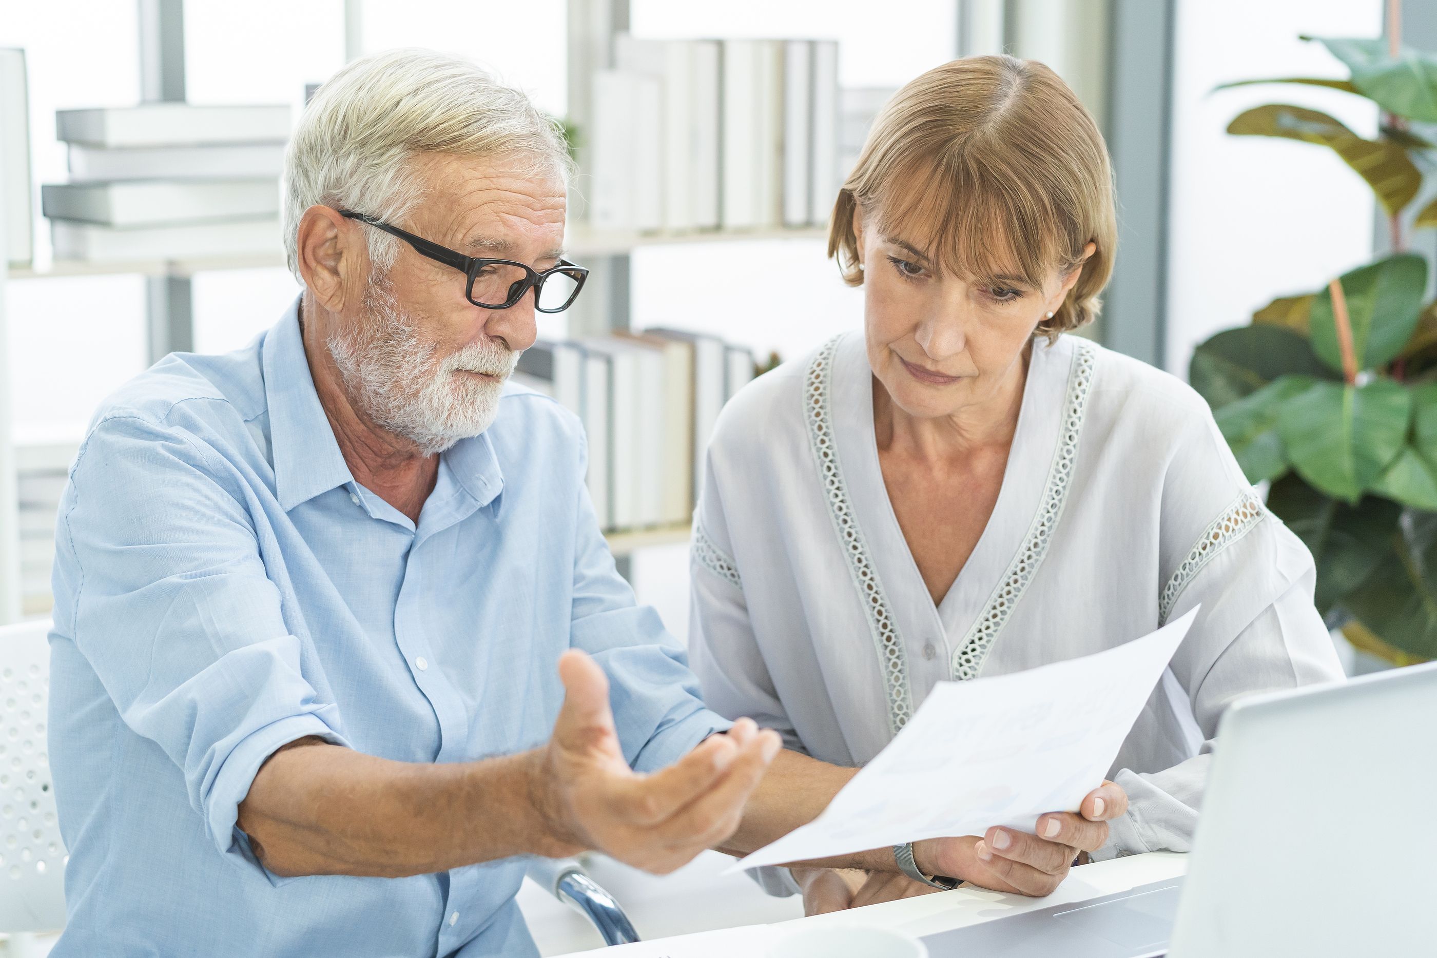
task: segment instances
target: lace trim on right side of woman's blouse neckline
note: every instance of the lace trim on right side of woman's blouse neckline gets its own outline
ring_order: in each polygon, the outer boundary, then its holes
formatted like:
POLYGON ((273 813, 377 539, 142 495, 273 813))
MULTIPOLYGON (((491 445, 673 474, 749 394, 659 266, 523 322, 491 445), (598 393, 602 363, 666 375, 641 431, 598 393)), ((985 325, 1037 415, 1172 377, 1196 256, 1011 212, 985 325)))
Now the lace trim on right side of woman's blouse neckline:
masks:
POLYGON ((1052 540, 1053 530, 1058 529, 1058 520, 1062 518, 1098 358, 1098 348, 1092 342, 1076 338, 1072 342, 1075 349, 1072 368, 1068 373, 1068 396, 1063 401, 1062 434, 1058 450, 1053 452, 1053 464, 1048 470, 1048 485, 1043 490, 1042 504, 1027 530, 1027 537, 1023 539, 1023 546, 1017 550, 1007 572, 1003 573, 993 595, 989 596, 983 612, 974 619, 969 633, 963 636, 963 643, 953 654, 950 669, 958 681, 976 678, 983 669, 983 661, 987 658, 989 649, 993 648, 993 641, 1038 573, 1038 566, 1048 554, 1048 543, 1052 540))

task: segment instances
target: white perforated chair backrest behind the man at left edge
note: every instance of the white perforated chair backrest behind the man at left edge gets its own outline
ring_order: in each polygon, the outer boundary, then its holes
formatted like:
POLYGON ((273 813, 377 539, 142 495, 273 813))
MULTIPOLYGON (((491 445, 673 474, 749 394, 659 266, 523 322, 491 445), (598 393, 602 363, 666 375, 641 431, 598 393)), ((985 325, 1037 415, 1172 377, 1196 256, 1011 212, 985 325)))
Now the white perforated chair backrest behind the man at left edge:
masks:
POLYGON ((65 863, 45 728, 50 623, 0 626, 0 932, 65 926, 65 863))

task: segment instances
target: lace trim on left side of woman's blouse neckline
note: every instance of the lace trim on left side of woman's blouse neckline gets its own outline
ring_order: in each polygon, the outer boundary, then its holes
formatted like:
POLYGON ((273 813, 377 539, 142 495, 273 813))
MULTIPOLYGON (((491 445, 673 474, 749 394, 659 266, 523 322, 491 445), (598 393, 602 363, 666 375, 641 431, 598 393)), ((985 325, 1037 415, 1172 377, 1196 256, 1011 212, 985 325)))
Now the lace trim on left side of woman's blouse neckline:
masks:
POLYGON ((803 382, 803 412, 808 421, 809 445, 818 464, 819 481, 828 498, 829 517, 838 541, 848 557, 848 572, 862 596, 868 629, 874 638, 874 649, 884 674, 884 691, 888 695, 888 724, 897 734, 912 718, 912 691, 908 685, 908 662, 904 654, 902 636, 894 622, 892 609, 884 585, 878 579, 864 531, 858 527, 848 485, 838 467, 838 450, 833 445, 833 425, 829 418, 829 391, 833 378, 833 352, 841 336, 828 340, 809 363, 803 382))

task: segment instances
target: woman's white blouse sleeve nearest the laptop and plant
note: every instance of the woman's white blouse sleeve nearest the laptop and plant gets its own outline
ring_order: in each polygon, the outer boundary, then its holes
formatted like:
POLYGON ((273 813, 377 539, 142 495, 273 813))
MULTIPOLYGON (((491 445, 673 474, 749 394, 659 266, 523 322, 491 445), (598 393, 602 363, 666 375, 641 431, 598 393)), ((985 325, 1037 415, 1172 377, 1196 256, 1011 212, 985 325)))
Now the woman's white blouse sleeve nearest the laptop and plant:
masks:
POLYGON ((1211 415, 1197 419, 1164 488, 1158 612, 1165 622, 1203 608, 1173 658, 1181 691, 1160 688, 1154 701, 1186 692, 1187 701, 1171 705, 1188 712, 1180 721, 1196 725, 1190 737, 1201 744, 1170 767, 1140 760, 1118 768, 1128 814, 1111 823, 1108 843, 1094 855, 1099 860, 1191 849, 1217 724, 1233 701, 1342 678, 1312 602, 1312 554, 1243 478, 1211 415))

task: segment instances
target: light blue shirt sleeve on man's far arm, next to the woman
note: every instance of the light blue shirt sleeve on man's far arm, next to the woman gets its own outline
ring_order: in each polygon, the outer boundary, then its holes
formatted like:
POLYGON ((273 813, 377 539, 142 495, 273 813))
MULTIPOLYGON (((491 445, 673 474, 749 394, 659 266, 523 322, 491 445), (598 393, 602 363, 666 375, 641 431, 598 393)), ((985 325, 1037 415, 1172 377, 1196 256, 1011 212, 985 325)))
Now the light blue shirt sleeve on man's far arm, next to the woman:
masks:
POLYGON ((638 771, 657 771, 731 722, 704 707, 688 654, 658 612, 637 605, 582 483, 578 510, 570 643, 592 655, 609 678, 624 758, 638 771))

